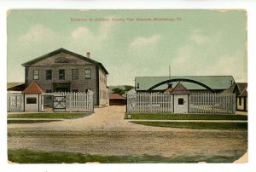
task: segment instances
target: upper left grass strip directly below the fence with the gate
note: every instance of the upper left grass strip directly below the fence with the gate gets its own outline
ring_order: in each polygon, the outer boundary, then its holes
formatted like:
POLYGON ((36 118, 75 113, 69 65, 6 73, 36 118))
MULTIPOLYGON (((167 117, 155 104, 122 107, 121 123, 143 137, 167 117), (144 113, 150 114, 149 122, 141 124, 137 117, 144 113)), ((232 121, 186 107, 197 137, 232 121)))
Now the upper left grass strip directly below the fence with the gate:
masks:
POLYGON ((82 118, 90 113, 25 113, 9 114, 8 118, 82 118))

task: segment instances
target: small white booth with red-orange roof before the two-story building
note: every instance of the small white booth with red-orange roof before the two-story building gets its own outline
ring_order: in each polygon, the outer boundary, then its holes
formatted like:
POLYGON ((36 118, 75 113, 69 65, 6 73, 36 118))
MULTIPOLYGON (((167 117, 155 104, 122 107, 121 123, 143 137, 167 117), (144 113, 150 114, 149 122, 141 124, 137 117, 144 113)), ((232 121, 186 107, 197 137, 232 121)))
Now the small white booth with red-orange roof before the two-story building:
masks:
POLYGON ((41 107, 41 94, 44 93, 44 89, 42 89, 38 83, 32 82, 30 83, 26 89, 22 91, 24 94, 24 111, 25 112, 40 112, 42 111, 41 107))

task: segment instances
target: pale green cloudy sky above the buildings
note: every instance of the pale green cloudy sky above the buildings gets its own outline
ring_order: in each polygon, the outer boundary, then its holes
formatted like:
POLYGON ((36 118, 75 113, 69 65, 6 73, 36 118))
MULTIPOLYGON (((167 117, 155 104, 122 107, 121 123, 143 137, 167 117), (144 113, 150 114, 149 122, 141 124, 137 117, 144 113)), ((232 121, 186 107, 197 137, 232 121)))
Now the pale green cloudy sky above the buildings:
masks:
POLYGON ((108 85, 135 77, 232 75, 247 82, 245 10, 9 10, 8 82, 28 60, 64 48, 99 61, 108 85), (154 20, 167 19, 167 20, 154 20))

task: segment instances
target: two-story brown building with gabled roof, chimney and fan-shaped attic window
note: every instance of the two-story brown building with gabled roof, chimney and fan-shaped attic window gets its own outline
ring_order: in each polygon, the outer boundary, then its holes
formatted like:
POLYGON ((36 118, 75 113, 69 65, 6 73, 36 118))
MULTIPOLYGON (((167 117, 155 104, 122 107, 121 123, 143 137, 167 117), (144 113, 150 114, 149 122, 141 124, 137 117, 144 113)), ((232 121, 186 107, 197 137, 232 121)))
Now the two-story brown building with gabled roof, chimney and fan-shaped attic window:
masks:
POLYGON ((36 82, 46 93, 94 92, 94 105, 108 105, 108 71, 102 63, 73 53, 57 49, 22 64, 25 66, 26 87, 36 82))

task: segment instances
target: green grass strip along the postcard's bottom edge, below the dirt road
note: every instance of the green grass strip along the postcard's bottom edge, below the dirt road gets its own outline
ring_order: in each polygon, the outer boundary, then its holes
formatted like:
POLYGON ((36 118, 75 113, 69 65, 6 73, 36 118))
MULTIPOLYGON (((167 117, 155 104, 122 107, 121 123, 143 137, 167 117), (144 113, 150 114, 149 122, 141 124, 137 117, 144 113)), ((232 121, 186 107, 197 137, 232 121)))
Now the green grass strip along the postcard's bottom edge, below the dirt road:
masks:
POLYGON ((230 156, 178 156, 162 157, 159 155, 137 156, 101 156, 74 152, 45 152, 28 149, 9 149, 8 158, 13 163, 232 163, 245 152, 234 152, 230 156))

